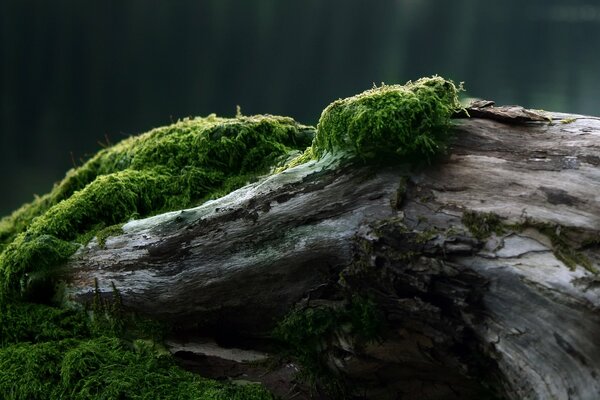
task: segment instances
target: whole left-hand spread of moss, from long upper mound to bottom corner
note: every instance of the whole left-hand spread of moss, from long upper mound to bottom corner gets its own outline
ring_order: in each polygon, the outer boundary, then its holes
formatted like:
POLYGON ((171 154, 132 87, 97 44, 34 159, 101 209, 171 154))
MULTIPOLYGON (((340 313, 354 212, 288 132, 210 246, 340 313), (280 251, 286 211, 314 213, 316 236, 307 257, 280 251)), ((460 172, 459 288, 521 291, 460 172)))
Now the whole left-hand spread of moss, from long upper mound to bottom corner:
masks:
POLYGON ((160 346, 136 339, 151 329, 116 329, 129 321, 106 310, 90 319, 84 311, 17 299, 48 300, 55 267, 93 236, 102 242, 130 218, 219 197, 304 150, 313 131, 275 116, 180 121, 101 150, 50 193, 2 219, 0 397, 271 399, 259 385, 232 386, 182 370, 160 346))

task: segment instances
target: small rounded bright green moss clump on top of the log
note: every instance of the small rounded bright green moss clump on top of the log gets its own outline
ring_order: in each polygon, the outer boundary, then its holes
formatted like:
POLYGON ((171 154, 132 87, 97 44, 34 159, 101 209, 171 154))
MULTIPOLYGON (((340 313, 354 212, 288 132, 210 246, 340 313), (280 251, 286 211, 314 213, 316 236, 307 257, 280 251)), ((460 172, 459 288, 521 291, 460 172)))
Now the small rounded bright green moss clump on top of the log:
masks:
POLYGON ((460 90, 434 76, 334 101, 321 114, 313 152, 430 160, 448 143, 450 117, 461 108, 460 90))

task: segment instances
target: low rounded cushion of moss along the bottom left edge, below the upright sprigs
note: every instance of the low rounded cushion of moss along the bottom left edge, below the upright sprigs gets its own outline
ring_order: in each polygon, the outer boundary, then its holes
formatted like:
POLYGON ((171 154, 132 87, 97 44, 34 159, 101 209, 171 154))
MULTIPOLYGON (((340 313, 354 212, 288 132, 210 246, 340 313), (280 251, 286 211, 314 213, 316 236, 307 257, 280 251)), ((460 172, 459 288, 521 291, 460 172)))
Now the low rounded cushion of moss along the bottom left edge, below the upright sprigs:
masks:
POLYGON ((3 399, 272 399, 186 372, 142 341, 117 338, 19 343, 0 349, 3 399))

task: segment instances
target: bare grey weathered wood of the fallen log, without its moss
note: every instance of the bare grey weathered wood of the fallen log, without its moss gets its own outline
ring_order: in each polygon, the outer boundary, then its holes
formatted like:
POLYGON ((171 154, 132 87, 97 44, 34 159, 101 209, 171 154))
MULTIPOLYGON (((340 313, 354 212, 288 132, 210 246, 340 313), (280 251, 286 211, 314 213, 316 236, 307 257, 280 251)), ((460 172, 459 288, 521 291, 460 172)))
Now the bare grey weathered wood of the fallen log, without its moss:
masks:
POLYGON ((481 398, 482 381, 511 399, 600 398, 600 121, 471 111, 433 167, 321 160, 132 221, 71 259, 67 293, 114 284, 132 310, 238 338, 368 293, 382 340, 340 335, 329 360, 369 398, 481 398))

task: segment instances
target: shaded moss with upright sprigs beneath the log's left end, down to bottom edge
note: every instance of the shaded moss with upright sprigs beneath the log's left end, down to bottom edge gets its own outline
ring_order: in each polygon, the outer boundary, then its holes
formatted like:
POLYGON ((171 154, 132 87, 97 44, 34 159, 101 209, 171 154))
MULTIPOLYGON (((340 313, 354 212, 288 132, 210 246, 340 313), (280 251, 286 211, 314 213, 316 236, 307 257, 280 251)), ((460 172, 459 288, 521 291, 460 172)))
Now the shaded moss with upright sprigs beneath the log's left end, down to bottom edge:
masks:
POLYGON ((116 292, 94 299, 87 311, 3 303, 0 398, 272 399, 260 385, 233 386, 184 371, 160 345, 156 323, 121 314, 119 303, 116 292))

